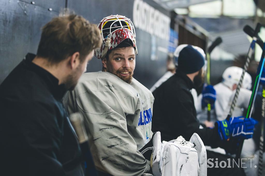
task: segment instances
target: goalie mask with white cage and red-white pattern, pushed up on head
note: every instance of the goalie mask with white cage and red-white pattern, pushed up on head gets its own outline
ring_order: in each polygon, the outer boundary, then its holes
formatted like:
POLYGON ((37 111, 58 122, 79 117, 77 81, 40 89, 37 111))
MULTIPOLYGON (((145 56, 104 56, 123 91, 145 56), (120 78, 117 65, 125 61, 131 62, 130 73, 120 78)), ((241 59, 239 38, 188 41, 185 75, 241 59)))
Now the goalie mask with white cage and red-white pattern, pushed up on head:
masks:
POLYGON ((95 49, 94 55, 104 58, 108 50, 117 47, 122 41, 129 39, 133 43, 135 55, 138 54, 135 40, 135 29, 131 20, 122 15, 111 15, 103 18, 98 25, 103 43, 100 48, 95 49))

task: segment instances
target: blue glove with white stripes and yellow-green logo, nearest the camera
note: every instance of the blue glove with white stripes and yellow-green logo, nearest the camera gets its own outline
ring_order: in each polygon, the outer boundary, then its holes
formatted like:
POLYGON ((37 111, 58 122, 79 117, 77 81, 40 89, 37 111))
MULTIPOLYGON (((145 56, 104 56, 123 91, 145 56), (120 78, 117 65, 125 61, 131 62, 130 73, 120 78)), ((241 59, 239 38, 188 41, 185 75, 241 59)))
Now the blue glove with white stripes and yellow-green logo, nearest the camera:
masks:
POLYGON ((255 124, 253 118, 231 117, 229 121, 216 121, 215 126, 218 128, 218 134, 221 140, 228 141, 231 137, 238 140, 251 138, 255 124))

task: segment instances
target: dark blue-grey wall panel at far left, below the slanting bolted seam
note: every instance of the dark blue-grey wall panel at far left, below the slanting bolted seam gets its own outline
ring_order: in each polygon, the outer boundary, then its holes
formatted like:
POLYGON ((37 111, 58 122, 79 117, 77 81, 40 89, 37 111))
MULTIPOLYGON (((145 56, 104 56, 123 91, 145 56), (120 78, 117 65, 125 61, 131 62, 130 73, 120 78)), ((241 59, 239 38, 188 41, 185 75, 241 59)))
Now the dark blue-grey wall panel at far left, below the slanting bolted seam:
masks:
POLYGON ((41 27, 58 12, 23 1, 0 1, 0 84, 28 52, 36 53, 41 27))

